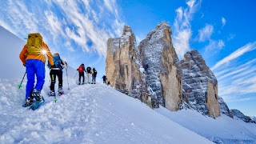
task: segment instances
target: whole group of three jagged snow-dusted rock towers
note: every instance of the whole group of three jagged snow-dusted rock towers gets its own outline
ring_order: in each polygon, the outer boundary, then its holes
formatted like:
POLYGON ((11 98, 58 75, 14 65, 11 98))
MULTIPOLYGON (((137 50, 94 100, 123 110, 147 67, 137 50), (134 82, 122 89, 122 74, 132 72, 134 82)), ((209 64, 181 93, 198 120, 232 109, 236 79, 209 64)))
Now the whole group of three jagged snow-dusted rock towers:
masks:
POLYGON ((107 42, 106 77, 122 93, 150 106, 169 110, 193 108, 213 118, 220 112, 232 116, 222 98, 218 82, 202 55, 192 50, 179 62, 172 31, 161 22, 136 46, 130 26, 120 38, 107 42))

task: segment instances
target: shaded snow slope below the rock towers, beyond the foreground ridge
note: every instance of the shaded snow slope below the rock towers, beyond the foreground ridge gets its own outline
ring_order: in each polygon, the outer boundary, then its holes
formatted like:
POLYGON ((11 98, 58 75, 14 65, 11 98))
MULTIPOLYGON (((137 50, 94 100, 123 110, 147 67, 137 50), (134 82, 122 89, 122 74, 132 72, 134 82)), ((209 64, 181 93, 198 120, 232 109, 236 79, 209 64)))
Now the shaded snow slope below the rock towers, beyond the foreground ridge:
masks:
POLYGON ((181 126, 217 143, 256 143, 256 125, 243 122, 240 118, 230 118, 222 114, 210 118, 196 110, 179 110, 170 112, 163 107, 157 109, 159 114, 170 118, 181 126))

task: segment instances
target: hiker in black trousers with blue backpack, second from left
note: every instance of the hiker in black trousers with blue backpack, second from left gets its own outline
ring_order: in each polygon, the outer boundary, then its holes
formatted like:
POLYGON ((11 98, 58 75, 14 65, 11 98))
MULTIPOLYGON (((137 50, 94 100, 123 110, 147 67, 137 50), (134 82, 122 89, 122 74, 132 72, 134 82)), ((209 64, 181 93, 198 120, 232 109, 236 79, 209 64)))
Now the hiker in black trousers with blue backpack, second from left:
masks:
POLYGON ((58 95, 64 94, 64 91, 62 90, 62 69, 67 67, 66 62, 60 58, 58 53, 55 53, 54 56, 54 66, 50 66, 50 63, 48 62, 48 66, 50 68, 50 96, 55 96, 55 82, 56 82, 56 76, 58 77, 58 95))

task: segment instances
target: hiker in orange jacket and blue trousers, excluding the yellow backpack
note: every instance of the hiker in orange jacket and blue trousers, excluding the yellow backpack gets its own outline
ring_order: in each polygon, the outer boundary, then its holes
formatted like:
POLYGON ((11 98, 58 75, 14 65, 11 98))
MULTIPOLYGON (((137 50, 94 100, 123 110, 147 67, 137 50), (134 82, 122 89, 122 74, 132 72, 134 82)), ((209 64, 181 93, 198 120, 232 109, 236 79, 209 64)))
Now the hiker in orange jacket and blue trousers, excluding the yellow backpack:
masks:
POLYGON ((41 42, 42 51, 40 54, 29 54, 27 44, 23 47, 22 52, 19 54, 23 66, 26 66, 26 103, 23 107, 31 106, 34 102, 42 102, 42 96, 40 95, 42 86, 45 82, 46 70, 45 62, 46 57, 50 62, 50 66, 54 66, 53 55, 50 53, 50 50, 46 43, 41 42), (34 75, 37 77, 37 83, 34 86, 34 75))

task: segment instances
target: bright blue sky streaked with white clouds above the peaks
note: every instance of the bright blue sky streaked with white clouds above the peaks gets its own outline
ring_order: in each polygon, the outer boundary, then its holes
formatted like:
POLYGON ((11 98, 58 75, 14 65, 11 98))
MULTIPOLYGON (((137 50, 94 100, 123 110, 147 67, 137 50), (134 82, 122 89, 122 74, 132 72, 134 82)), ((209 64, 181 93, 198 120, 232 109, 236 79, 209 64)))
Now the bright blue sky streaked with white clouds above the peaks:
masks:
MULTIPOLYGON (((105 73, 106 41, 129 25, 139 43, 169 22, 180 59, 198 50, 218 78, 218 94, 232 109, 256 115, 256 2, 253 0, 46 0, 0 2, 0 25, 26 38, 40 32, 52 52, 73 66, 105 73)), ((21 48, 22 49, 22 48, 21 48)))

